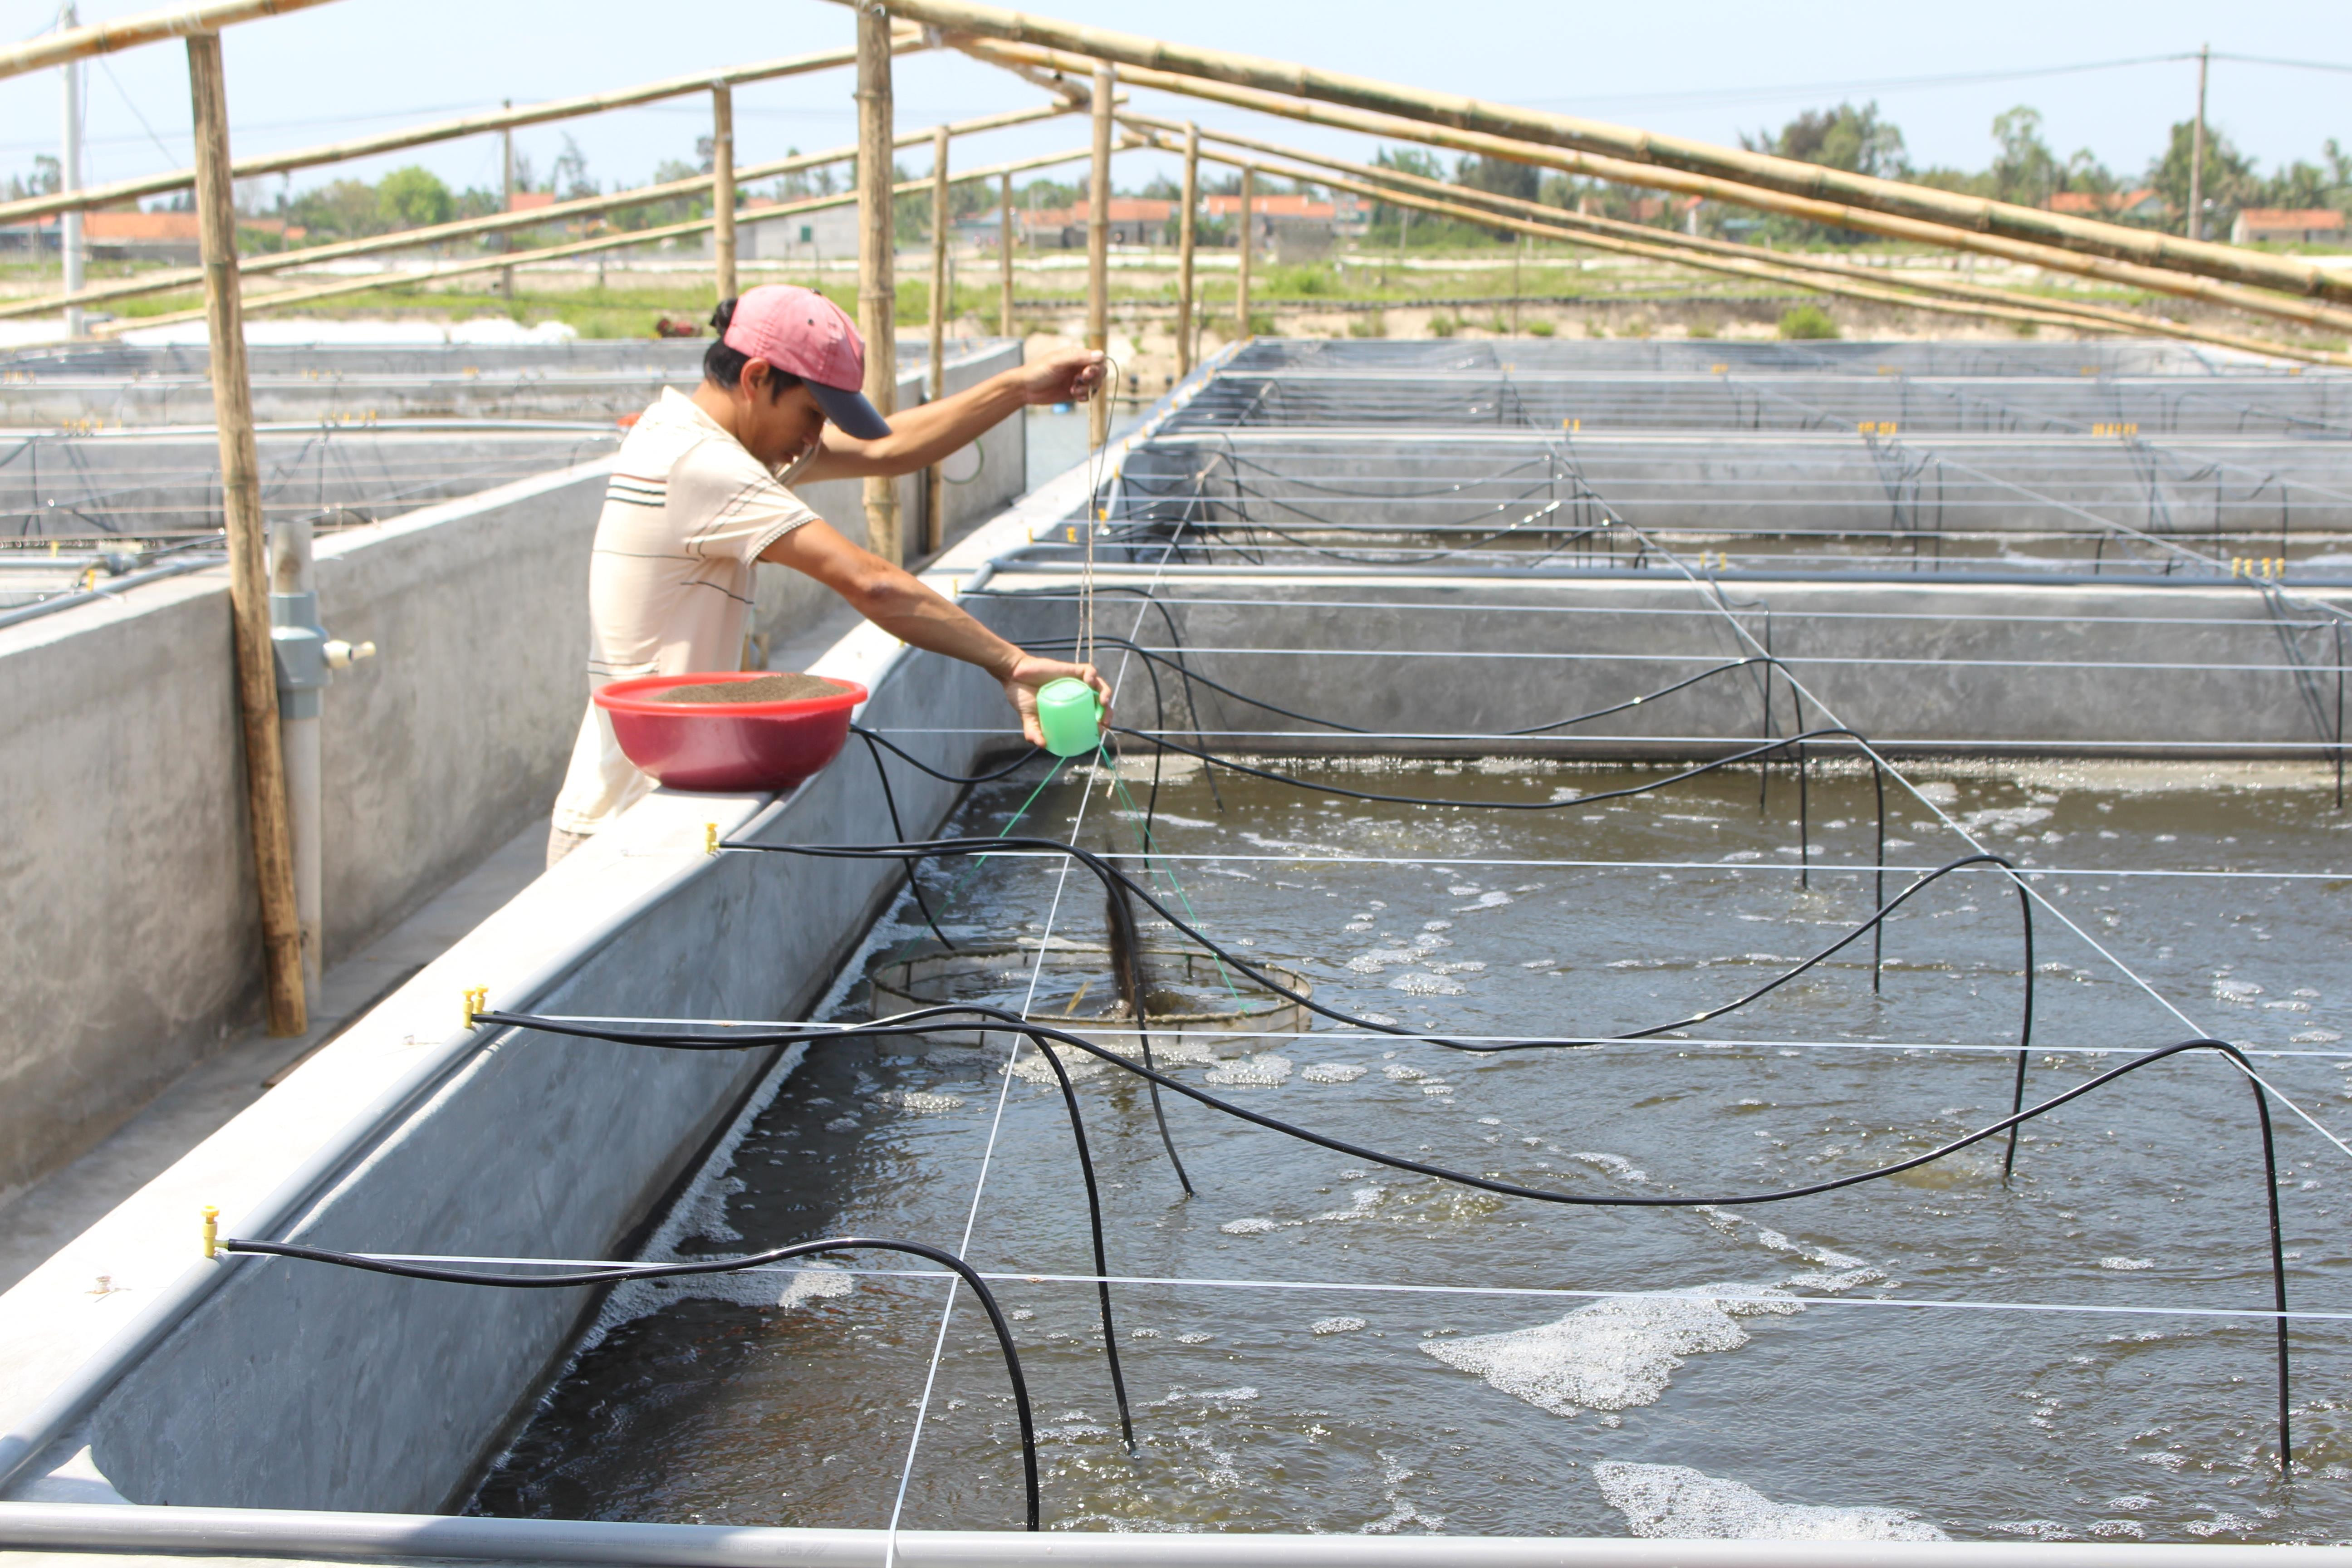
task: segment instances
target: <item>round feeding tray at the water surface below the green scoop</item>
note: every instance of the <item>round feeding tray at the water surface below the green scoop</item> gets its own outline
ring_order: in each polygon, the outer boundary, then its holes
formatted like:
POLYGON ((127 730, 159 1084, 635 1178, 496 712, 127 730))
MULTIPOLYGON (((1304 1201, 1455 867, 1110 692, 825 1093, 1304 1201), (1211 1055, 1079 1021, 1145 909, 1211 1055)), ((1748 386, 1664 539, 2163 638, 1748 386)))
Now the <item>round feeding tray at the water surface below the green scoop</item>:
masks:
MULTIPOLYGON (((1294 969, 1251 959, 1268 976, 1298 992, 1315 994, 1315 983, 1294 969)), ((1277 997, 1256 980, 1242 976, 1230 964, 1221 966, 1207 952, 1174 947, 1143 950, 1143 1011, 1152 1034, 1152 1048, 1185 1044, 1195 1051, 1232 1053, 1261 1048, 1256 1034, 1298 1034, 1308 1027, 1308 1009, 1289 997, 1277 997)), ((1108 1051, 1141 1056, 1141 1044, 1127 1030, 1134 1027, 1127 1006, 1120 1001, 1117 980, 1110 973, 1110 947, 1084 943, 1037 943, 964 947, 960 952, 924 952, 913 959, 875 959, 866 966, 870 1006, 875 1018, 913 1013, 943 1001, 976 1001, 1000 1006, 1009 1013, 1073 1032, 1110 1030, 1101 1034, 1108 1051), (1030 971, 1037 971, 1035 994, 1030 971)), ((941 1034, 910 1037, 906 1051, 924 1046, 971 1046, 983 1030, 955 1030, 941 1034)))

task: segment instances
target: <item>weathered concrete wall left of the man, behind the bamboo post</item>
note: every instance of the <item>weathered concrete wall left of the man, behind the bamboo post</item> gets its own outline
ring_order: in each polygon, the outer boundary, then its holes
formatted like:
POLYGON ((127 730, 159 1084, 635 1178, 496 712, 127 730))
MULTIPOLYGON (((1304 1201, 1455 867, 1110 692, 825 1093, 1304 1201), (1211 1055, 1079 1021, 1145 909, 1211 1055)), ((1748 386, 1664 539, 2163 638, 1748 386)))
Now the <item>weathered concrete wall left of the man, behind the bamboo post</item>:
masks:
MULTIPOLYGON (((588 689, 602 489, 597 463, 320 543, 322 618, 381 646, 327 693, 329 959, 546 809, 588 689)), ((223 578, 0 630, 0 1187, 89 1147, 254 1011, 223 578)))

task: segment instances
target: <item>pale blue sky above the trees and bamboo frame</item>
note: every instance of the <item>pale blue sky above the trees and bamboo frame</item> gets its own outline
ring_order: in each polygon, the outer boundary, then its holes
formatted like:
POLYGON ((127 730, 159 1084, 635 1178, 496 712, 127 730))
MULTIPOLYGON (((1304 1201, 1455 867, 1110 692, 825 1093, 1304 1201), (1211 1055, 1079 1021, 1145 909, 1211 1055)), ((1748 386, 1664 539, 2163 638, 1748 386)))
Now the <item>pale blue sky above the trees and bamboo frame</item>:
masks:
MULTIPOLYGON (((82 21, 155 9, 155 0, 85 0, 82 21)), ((1978 0, 1973 7, 1856 7, 1795 0, 1780 7, 1684 0, 1672 7, 1536 5, 1531 0, 1404 0, 1265 5, 1192 0, 1023 0, 1023 9, 1181 42, 1242 49, 1329 71, 1501 99, 1653 132, 1736 143, 1809 106, 1875 99, 1903 127, 1919 165, 1978 169, 1992 158, 1990 125, 2030 103, 2060 158, 2089 148, 2117 174, 2138 174, 2161 150, 2166 125, 2197 101, 2194 61, 2145 61, 2211 45, 2220 54, 2333 63, 2310 71, 2216 61, 2209 118, 2270 172, 2319 158, 2326 139, 2352 146, 2352 5, 2284 0, 2216 12, 2185 0, 2133 7, 2049 7, 1978 0), (1343 26, 1334 19, 1343 16, 1343 26), (2122 26, 2129 16, 2129 26, 2122 26), (2074 66, 2103 66, 2072 71, 2074 66), (2027 75, 2046 73, 2046 75, 2027 75)), ((642 0, 334 0, 226 33, 230 148, 263 153, 374 134, 550 96, 616 89, 746 61, 851 42, 851 14, 828 0, 691 0, 654 7, 670 26, 647 26, 642 0)), ((54 26, 52 5, 0 0, 5 38, 54 26)), ((0 176, 28 174, 61 134, 61 73, 0 80, 0 176)), ((736 94, 736 162, 854 141, 849 71, 743 87, 736 94)), ((898 125, 1018 108, 1037 89, 957 54, 901 56, 898 125)), ((87 68, 85 181, 129 179, 188 162, 188 80, 181 45, 101 56, 87 68)), ((1202 125, 1247 129, 1291 146, 1369 158, 1371 143, 1341 132, 1268 122, 1242 110, 1162 94, 1136 103, 1202 125)), ((517 132, 517 150, 546 174, 564 132, 579 139, 590 179, 642 183, 666 158, 691 158, 708 132, 708 101, 680 99, 555 127, 517 132)), ((1077 150, 1077 120, 960 141, 957 162, 1077 150)), ((920 169, 927 153, 901 160, 920 169)), ((376 179, 421 162, 452 186, 496 186, 494 136, 437 143, 343 165, 376 179)), ((1073 165, 1075 167, 1075 165, 1073 165)), ((1117 183, 1136 188, 1174 160, 1129 153, 1117 183)), ((334 174, 294 174, 294 190, 334 174)))

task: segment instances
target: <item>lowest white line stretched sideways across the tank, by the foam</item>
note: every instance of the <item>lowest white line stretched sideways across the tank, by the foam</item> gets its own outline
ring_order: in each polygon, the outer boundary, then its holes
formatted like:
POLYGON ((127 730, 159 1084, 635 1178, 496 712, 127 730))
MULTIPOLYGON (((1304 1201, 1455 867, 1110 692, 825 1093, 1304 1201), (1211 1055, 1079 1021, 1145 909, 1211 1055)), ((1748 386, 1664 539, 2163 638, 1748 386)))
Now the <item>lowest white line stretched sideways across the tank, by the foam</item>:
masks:
MULTIPOLYGON (((259 1253, 247 1253, 259 1255, 259 1253)), ((609 1258, 470 1258, 459 1253, 353 1253, 355 1258, 367 1258, 369 1262, 419 1262, 419 1265, 501 1265, 501 1267, 550 1267, 550 1269, 628 1269, 642 1267, 640 1262, 616 1262, 609 1258)), ((727 1269, 729 1274, 849 1274, 856 1279, 957 1279, 946 1269, 814 1269, 793 1267, 788 1262, 762 1262, 748 1269, 727 1269)), ((1698 1300, 1698 1302, 1724 1302, 1724 1305, 1752 1305, 1757 1300, 1776 1302, 1799 1302, 1804 1307, 1931 1307, 1945 1312, 2086 1312, 2086 1314, 2114 1314, 2114 1316, 2223 1316, 2223 1319, 2288 1319, 2288 1321, 2324 1321, 2324 1324, 2352 1324, 2352 1312, 2336 1312, 2326 1307, 2288 1307, 2279 1312, 2277 1307, 2103 1307, 2093 1302, 1964 1302, 1933 1295, 1708 1295, 1703 1291, 1585 1291, 1573 1286, 1409 1286, 1388 1281, 1350 1281, 1350 1279, 1209 1279, 1192 1274, 993 1274, 988 1269, 974 1269, 988 1284, 1016 1284, 1016 1286, 1169 1286, 1169 1288, 1204 1288, 1204 1291, 1336 1291, 1336 1293, 1367 1293, 1367 1295, 1536 1295, 1536 1298, 1559 1298, 1559 1300, 1698 1300)), ((677 1279, 677 1276, 673 1276, 677 1279)))

